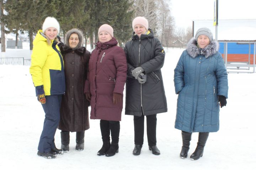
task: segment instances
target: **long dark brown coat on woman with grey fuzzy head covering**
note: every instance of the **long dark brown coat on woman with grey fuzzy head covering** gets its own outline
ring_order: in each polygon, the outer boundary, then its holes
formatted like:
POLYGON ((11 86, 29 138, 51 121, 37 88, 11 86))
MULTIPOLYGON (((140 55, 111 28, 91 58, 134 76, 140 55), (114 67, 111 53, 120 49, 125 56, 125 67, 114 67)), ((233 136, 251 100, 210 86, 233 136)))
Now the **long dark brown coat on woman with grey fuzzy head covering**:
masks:
POLYGON ((85 47, 72 50, 60 47, 64 59, 66 92, 60 108, 58 129, 78 132, 89 129, 88 101, 84 94, 84 84, 90 52, 85 47))

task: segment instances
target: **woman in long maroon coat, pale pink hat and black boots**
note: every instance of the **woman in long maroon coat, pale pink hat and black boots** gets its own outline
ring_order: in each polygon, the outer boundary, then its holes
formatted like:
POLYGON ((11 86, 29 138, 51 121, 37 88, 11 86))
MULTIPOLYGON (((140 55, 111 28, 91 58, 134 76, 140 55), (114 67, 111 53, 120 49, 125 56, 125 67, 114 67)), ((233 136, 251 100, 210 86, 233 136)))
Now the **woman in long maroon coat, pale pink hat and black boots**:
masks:
POLYGON ((89 72, 84 93, 91 102, 91 119, 101 119, 103 146, 97 155, 111 157, 118 153, 123 90, 127 62, 121 47, 113 37, 113 28, 103 24, 98 30, 96 49, 89 60, 89 72), (110 144, 110 131, 112 142, 110 144))

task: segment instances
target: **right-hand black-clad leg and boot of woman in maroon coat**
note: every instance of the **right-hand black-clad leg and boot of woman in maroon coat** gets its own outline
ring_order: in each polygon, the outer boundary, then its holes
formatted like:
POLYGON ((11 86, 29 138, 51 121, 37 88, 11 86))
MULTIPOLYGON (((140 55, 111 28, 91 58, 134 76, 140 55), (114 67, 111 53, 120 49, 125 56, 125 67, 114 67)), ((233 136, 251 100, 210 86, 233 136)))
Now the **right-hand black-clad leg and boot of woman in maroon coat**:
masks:
POLYGON ((120 122, 119 121, 109 121, 110 122, 110 131, 111 131, 111 145, 108 151, 106 152, 106 157, 112 157, 118 153, 118 142, 119 142, 119 133, 120 133, 120 122))

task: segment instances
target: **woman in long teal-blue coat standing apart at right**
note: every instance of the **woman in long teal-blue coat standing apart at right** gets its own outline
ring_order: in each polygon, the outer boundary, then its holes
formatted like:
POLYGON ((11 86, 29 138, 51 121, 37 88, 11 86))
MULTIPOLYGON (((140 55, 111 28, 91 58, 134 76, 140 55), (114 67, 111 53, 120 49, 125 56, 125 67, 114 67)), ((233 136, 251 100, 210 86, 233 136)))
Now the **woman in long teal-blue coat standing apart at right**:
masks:
POLYGON ((187 158, 192 132, 199 132, 190 157, 197 160, 203 156, 209 132, 219 130, 219 107, 226 106, 228 98, 228 74, 218 47, 208 28, 198 29, 174 70, 175 128, 182 131, 182 159, 187 158))

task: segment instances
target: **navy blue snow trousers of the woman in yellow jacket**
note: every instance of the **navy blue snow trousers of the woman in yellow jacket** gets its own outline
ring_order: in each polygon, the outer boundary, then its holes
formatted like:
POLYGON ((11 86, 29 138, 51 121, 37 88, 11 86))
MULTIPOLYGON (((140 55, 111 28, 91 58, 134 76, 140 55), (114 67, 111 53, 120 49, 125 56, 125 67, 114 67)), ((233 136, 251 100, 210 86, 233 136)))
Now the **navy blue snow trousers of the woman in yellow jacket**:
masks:
POLYGON ((43 131, 38 144, 38 151, 47 153, 55 147, 54 135, 60 120, 60 104, 62 95, 46 96, 46 103, 42 104, 45 118, 43 131))

